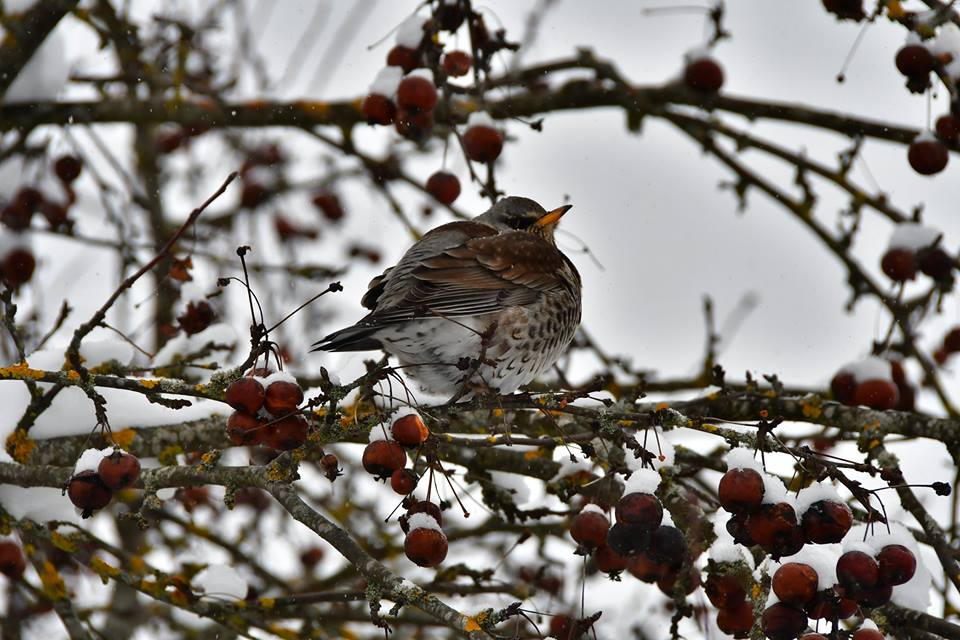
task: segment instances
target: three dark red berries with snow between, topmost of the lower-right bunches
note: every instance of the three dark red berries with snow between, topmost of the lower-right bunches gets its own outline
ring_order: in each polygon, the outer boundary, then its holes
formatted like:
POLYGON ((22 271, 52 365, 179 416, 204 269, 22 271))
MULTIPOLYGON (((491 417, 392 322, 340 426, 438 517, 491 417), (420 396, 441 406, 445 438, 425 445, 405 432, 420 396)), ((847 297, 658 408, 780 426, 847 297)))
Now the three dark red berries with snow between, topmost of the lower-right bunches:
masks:
POLYGON ((752 468, 728 470, 717 495, 720 506, 732 514, 727 531, 734 542, 758 545, 774 560, 797 553, 804 544, 840 542, 853 525, 850 508, 836 500, 817 500, 799 518, 788 502, 764 502, 763 476, 752 468))

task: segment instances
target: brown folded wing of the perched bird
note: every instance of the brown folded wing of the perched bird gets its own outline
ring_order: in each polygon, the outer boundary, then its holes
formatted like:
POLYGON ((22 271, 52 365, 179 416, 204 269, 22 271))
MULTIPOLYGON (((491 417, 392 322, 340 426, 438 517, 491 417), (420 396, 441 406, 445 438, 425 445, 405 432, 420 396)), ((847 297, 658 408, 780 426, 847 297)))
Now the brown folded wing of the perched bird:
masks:
POLYGON ((491 313, 531 304, 546 292, 567 286, 559 275, 564 266, 561 254, 523 231, 484 233, 440 250, 419 251, 415 257, 411 253, 375 284, 383 290, 362 324, 491 313))

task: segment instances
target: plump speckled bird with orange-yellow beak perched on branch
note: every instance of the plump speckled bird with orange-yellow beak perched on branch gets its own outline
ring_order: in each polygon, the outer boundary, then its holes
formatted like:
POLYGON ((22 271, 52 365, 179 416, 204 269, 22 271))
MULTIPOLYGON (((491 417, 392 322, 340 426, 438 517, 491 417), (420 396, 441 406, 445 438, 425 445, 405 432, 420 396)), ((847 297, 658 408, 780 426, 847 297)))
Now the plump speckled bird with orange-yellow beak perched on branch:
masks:
POLYGON ((580 274, 553 237, 570 206, 511 196, 431 230, 370 282, 361 304, 371 312, 314 351, 383 349, 438 395, 515 391, 580 324, 580 274))

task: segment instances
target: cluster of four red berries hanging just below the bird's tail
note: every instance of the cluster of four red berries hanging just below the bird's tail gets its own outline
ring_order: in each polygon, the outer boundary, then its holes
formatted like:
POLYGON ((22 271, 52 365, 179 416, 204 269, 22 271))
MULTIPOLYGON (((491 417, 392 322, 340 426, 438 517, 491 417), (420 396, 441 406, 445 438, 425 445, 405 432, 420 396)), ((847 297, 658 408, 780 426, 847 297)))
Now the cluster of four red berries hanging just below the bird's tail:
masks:
POLYGON ((227 418, 227 436, 234 444, 289 451, 307 441, 307 420, 297 409, 303 389, 292 376, 253 370, 230 383, 226 401, 236 409, 227 418))

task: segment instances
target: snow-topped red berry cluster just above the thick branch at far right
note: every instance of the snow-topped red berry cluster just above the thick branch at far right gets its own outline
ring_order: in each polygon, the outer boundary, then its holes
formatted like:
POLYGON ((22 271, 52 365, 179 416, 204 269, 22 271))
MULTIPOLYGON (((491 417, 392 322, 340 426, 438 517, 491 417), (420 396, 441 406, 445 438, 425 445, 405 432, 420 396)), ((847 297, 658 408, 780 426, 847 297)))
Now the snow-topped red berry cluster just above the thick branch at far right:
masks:
POLYGON ((842 367, 830 380, 830 390, 837 402, 878 411, 912 411, 916 398, 903 364, 877 357, 842 367))

